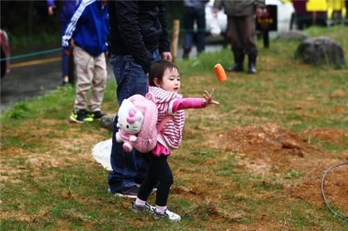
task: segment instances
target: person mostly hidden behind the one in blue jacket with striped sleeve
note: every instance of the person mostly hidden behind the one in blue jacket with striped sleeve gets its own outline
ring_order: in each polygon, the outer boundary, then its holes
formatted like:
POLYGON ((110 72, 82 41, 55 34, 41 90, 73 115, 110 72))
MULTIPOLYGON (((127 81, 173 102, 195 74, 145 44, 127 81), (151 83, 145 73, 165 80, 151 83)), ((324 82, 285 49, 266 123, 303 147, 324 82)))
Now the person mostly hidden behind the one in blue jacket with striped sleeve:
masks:
MULTIPOLYGON (((59 16, 59 22, 61 22, 61 34, 63 35, 66 26, 68 26, 74 11, 77 9, 81 0, 64 0, 61 9, 61 14, 59 16)), ((54 0, 47 0, 48 15, 54 15, 54 0)), ((62 70, 63 70, 63 81, 62 86, 66 86, 69 82, 69 56, 62 52, 62 70)))

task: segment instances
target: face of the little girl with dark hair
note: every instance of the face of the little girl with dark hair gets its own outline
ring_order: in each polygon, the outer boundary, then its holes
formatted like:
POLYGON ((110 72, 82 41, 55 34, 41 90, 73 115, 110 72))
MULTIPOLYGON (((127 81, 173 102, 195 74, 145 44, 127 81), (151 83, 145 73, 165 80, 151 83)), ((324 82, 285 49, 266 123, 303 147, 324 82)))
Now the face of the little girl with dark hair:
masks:
POLYGON ((172 93, 177 93, 180 90, 180 74, 176 68, 167 69, 164 71, 161 83, 159 83, 157 79, 155 84, 159 88, 168 90, 172 93))

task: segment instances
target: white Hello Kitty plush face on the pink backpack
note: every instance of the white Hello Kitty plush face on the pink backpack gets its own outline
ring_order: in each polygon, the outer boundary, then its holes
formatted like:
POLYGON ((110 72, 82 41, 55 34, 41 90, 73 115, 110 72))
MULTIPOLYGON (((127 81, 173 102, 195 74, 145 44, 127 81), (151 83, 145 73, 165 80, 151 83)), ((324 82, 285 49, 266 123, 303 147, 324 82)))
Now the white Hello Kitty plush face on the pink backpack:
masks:
POLYGON ((123 100, 118 109, 117 127, 122 128, 122 132, 127 134, 138 134, 143 125, 144 116, 141 111, 128 99, 123 100))

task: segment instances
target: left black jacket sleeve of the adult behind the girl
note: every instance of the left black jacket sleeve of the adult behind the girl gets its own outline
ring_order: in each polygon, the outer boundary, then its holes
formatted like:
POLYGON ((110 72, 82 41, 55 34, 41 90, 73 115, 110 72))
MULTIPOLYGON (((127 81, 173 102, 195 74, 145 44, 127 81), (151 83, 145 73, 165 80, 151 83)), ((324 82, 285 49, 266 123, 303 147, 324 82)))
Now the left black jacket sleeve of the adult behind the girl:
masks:
POLYGON ((143 35, 139 27, 139 6, 137 1, 116 1, 116 17, 118 30, 125 41, 134 61, 139 63, 145 73, 150 70, 151 63, 155 62, 152 54, 146 49, 143 35))

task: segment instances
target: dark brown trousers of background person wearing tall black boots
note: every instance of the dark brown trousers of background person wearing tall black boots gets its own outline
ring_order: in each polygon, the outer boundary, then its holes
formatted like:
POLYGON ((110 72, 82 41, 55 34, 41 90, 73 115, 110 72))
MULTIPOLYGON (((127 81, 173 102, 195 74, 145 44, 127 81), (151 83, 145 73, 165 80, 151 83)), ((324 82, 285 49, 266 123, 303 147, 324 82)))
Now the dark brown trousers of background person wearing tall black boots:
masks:
POLYGON ((253 16, 228 16, 228 37, 232 51, 244 51, 246 54, 258 54, 255 45, 255 18, 253 16))

